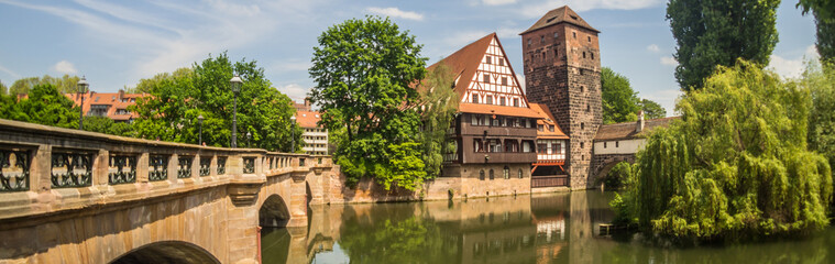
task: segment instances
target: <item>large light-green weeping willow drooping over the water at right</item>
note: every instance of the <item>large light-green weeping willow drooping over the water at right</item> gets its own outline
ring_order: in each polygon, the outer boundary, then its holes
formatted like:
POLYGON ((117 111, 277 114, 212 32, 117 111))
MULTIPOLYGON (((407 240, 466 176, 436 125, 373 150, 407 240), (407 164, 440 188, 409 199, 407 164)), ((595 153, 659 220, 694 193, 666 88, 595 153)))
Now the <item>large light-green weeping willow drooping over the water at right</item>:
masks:
POLYGON ((832 173, 806 150, 809 91, 758 65, 719 67, 677 105, 682 120, 638 153, 613 206, 647 232, 690 241, 805 234, 828 224, 832 173))

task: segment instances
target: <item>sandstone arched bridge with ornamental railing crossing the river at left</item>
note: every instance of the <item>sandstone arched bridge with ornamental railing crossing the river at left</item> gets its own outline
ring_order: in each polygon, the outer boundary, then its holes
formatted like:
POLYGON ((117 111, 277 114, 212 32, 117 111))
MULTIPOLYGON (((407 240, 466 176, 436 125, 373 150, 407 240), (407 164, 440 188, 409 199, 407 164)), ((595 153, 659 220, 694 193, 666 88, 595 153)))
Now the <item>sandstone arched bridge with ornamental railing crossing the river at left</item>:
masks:
POLYGON ((256 263, 260 227, 307 226, 338 170, 0 120, 0 263, 256 263))

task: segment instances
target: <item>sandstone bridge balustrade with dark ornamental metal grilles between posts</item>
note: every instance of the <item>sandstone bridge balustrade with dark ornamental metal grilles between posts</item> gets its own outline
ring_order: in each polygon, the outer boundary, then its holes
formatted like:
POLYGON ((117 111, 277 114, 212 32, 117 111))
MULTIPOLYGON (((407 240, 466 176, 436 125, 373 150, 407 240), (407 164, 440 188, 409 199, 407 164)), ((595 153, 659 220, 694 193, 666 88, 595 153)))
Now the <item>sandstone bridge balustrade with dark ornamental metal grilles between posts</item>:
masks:
POLYGON ((330 166, 330 156, 149 141, 0 119, 0 221, 222 185, 252 189, 267 177, 298 180, 305 172, 330 166))

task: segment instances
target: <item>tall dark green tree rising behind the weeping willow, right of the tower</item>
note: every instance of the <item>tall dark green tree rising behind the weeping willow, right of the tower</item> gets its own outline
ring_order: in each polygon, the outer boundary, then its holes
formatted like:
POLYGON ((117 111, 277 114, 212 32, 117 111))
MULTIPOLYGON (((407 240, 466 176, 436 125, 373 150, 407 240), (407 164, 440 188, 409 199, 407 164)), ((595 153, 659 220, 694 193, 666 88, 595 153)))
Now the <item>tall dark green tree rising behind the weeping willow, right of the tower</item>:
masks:
POLYGON ((768 65, 777 44, 780 0, 670 0, 667 20, 678 48, 675 79, 681 89, 703 87, 716 66, 737 58, 768 65))

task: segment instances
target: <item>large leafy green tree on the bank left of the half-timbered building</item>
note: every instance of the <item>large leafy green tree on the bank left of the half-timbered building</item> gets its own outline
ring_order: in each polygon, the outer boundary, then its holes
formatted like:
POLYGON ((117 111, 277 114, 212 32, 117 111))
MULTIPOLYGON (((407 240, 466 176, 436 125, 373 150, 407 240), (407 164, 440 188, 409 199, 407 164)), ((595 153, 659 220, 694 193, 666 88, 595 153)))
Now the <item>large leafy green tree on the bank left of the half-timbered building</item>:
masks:
POLYGON ((373 177, 386 189, 396 184, 414 190, 426 177, 422 162, 413 163, 410 156, 421 155, 411 151, 421 123, 419 95, 413 88, 426 75, 421 45, 377 16, 330 26, 318 42, 309 69, 316 82, 310 97, 321 108, 325 128, 344 127, 336 156, 349 184, 373 177), (404 165, 400 162, 420 173, 406 178, 385 173, 404 165))

